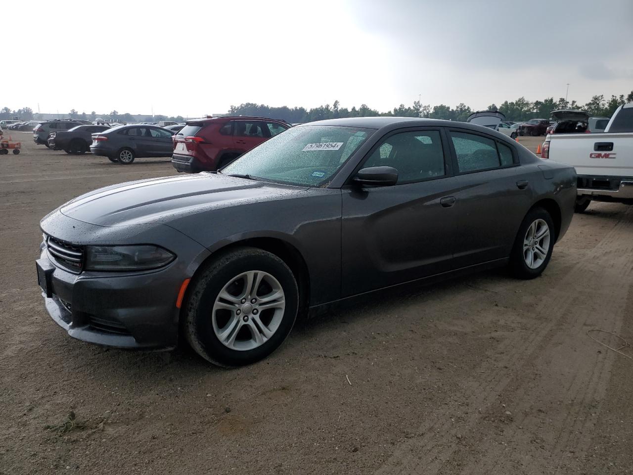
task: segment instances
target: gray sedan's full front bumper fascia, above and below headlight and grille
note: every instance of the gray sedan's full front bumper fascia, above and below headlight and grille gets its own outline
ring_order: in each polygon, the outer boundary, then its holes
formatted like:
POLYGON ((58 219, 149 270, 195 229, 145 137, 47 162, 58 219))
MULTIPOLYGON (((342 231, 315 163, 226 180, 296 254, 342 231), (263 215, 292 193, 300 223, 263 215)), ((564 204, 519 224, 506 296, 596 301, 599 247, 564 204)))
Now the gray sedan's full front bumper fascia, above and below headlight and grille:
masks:
POLYGON ((176 259, 158 270, 92 272, 68 269, 42 243, 36 261, 44 305, 69 336, 119 348, 169 349, 177 346, 182 282, 210 255, 200 244, 166 225, 103 227, 56 210, 42 231, 76 246, 153 242, 176 259))

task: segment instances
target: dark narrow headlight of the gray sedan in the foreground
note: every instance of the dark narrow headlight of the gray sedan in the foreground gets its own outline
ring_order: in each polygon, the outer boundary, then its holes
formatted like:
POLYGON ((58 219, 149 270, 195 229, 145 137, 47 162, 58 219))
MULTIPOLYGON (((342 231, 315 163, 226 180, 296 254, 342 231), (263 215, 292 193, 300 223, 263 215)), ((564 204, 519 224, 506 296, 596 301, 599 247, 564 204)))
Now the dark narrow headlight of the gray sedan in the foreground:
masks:
POLYGON ((175 259, 158 246, 86 246, 85 270, 151 270, 175 259))

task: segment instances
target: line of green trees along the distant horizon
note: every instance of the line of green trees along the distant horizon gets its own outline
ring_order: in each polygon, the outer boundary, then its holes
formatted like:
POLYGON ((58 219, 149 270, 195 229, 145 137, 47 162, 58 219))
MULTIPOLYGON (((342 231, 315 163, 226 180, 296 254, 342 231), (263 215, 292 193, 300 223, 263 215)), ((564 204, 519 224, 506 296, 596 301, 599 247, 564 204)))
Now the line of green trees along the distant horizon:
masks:
MULTIPOLYGON (((604 95, 593 96, 586 104, 579 104, 576 101, 567 101, 560 98, 555 101, 554 98, 546 98, 542 101, 530 102, 524 97, 520 97, 515 101, 504 101, 500 106, 491 104, 487 110, 498 110, 502 112, 507 120, 520 122, 530 120, 531 118, 549 118, 551 112, 556 109, 575 109, 586 110, 591 116, 611 117, 618 106, 633 102, 633 91, 627 96, 620 94, 619 96, 611 96, 606 99, 604 95)), ((423 105, 420 101, 414 101, 412 106, 404 104, 394 107, 393 110, 380 112, 379 110, 370 108, 367 104, 362 104, 359 108, 355 106, 351 109, 341 107, 339 101, 334 101, 332 105, 326 104, 311 109, 304 107, 272 107, 263 104, 244 103, 239 106, 231 106, 229 115, 256 115, 260 117, 271 117, 287 120, 292 124, 296 122, 313 122, 314 120, 325 120, 330 118, 346 118, 346 117, 375 117, 375 116, 393 116, 393 117, 424 117, 437 118, 444 120, 460 120, 465 121, 468 115, 473 113, 470 106, 460 103, 451 108, 450 106, 440 104, 437 106, 423 105)), ((0 119, 10 119, 19 117, 22 120, 39 119, 39 114, 34 114, 30 107, 18 110, 11 110, 8 107, 0 109, 0 119)), ((85 112, 78 113, 77 110, 71 109, 68 117, 82 118, 84 120, 95 120, 103 118, 104 120, 112 120, 118 122, 135 122, 137 120, 130 113, 119 113, 116 110, 110 111, 108 114, 97 114, 92 111, 90 114, 85 112)), ((184 122, 184 117, 166 116, 166 115, 148 115, 141 122, 159 122, 161 120, 173 120, 175 122, 184 122)))

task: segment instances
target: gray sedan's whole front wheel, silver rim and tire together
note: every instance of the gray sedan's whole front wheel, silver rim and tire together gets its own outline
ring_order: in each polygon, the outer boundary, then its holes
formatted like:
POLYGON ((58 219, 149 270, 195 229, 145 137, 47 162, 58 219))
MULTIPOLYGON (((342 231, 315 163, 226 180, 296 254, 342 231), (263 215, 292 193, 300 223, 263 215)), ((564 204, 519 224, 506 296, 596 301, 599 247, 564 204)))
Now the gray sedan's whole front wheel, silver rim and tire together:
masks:
POLYGON ((267 357, 297 317, 292 271, 276 255, 236 248, 220 255, 191 283, 184 315, 189 345, 209 362, 236 367, 267 357))

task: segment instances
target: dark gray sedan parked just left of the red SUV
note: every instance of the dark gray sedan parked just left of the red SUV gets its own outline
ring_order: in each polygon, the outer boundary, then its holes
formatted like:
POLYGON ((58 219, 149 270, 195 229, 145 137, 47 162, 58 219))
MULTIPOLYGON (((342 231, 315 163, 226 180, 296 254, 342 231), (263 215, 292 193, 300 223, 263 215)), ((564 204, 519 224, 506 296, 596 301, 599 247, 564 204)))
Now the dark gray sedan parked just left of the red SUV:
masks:
POLYGON ((122 125, 92 134, 90 151, 128 165, 139 157, 172 156, 172 136, 156 125, 122 125))

